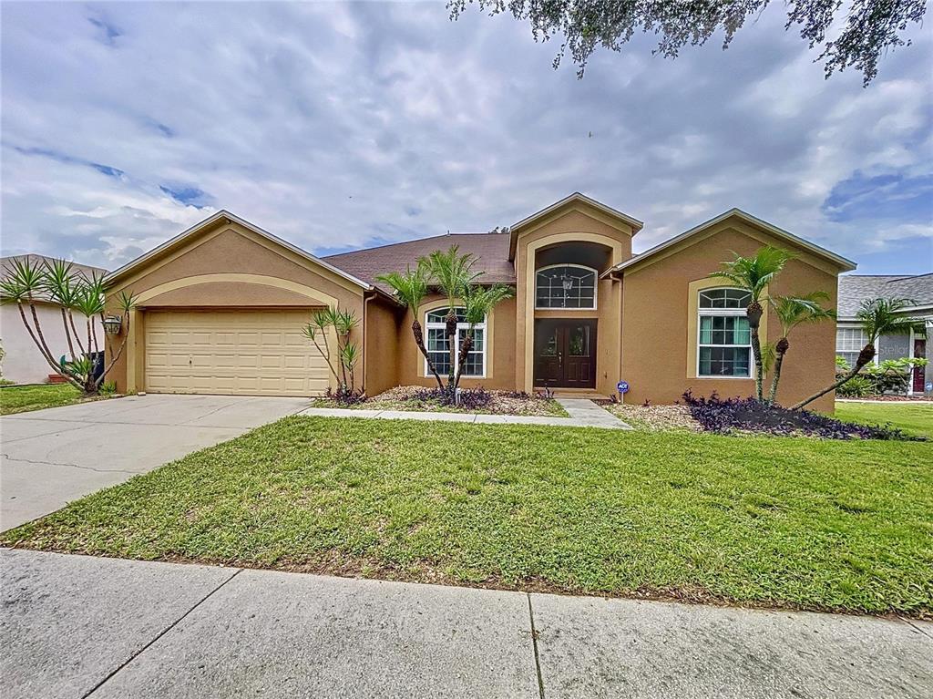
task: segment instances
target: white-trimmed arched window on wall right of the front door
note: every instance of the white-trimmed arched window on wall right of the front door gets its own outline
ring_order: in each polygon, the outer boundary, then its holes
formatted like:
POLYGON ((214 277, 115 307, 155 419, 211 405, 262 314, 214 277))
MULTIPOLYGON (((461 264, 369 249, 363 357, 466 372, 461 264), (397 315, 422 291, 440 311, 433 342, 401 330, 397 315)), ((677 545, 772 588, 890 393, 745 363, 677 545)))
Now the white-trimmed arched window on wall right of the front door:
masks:
POLYGON ((697 376, 751 376, 751 331, 745 308, 751 294, 736 288, 700 292, 697 376))

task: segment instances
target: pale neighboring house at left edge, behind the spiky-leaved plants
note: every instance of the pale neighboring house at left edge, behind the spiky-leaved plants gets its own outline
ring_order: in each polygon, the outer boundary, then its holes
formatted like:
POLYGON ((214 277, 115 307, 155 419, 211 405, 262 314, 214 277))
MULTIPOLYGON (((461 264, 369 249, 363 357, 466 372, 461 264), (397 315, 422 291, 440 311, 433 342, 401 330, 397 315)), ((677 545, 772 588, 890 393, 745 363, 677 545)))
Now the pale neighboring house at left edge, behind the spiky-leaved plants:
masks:
MULTIPOLYGON (((11 269, 13 260, 30 259, 33 263, 41 265, 45 260, 51 260, 41 255, 14 255, 7 258, 0 258, 0 274, 7 277, 11 269)), ((90 277, 92 274, 101 276, 106 273, 101 267, 91 267, 89 265, 72 263, 75 272, 90 277)), ((26 306, 26 314, 29 317, 30 324, 33 322, 29 307, 26 306)), ((68 341, 65 338, 64 327, 62 323, 62 307, 47 299, 39 299, 35 303, 35 314, 39 318, 39 327, 42 334, 49 344, 49 350, 55 357, 61 357, 68 354, 68 341)), ((85 315, 75 314, 75 325, 78 331, 84 332, 87 328, 85 315)), ((101 330, 100 321, 94 324, 97 336, 97 346, 103 347, 104 335, 101 330)), ((84 335, 81 335, 82 342, 84 335)), ((3 359, 3 377, 17 384, 41 384, 49 380, 49 373, 53 373, 49 364, 42 355, 39 354, 33 339, 29 332, 22 325, 20 310, 16 303, 5 303, 0 306, 0 340, 3 341, 6 356, 3 359)), ((77 351, 77 350, 76 350, 77 351)))

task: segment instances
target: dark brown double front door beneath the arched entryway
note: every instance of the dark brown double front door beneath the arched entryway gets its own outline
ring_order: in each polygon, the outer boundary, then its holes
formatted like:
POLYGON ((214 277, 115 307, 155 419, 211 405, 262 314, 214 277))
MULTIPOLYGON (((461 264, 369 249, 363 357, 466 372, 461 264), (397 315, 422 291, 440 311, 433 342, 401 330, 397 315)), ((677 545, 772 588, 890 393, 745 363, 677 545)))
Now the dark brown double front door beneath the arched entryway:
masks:
POLYGON ((596 321, 535 323, 535 385, 563 388, 596 386, 596 321))

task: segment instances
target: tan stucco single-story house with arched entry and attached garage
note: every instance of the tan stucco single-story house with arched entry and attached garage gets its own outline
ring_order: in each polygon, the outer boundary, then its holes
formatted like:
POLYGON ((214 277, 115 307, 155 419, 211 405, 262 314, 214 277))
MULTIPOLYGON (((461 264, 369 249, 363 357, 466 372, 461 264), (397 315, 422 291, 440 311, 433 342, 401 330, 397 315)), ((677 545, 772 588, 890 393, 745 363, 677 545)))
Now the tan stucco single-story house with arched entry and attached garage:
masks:
MULTIPOLYGON (((507 232, 441 235, 317 258, 220 211, 108 277, 111 295, 132 290, 122 390, 310 396, 327 390, 324 357, 301 335, 313 307, 336 304, 360 319, 362 379, 369 395, 395 385, 429 386, 411 337, 417 317, 439 370, 447 354, 444 300, 403 309, 380 273, 404 271, 433 250, 459 245, 479 259, 484 282, 514 285, 514 299, 479 326, 465 386, 670 403, 685 390, 748 396, 753 365, 745 298, 711 276, 732 251, 792 250, 772 293, 822 290, 834 306, 837 276, 855 264, 738 209, 633 256, 642 222, 582 194, 526 217, 507 232), (414 315, 412 315, 414 314, 414 315)), ((465 331, 466 329, 462 329, 465 331)), ((762 325, 778 339, 773 320, 762 325)), ((458 339, 459 342, 459 339, 458 339)), ((835 328, 798 329, 780 398, 803 398, 832 382, 835 328)), ((832 409, 832 396, 817 407, 832 409)))

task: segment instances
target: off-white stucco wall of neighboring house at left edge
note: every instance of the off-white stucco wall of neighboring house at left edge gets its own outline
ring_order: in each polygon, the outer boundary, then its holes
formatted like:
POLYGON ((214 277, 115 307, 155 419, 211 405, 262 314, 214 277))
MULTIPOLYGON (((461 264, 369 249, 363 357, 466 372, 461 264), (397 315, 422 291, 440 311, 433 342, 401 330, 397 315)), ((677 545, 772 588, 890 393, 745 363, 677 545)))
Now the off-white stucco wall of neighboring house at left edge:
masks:
MULTIPOLYGON (((58 306, 46 303, 37 304, 36 314, 39 316, 39 324, 42 327, 42 334, 49 344, 49 350, 57 359, 62 355, 68 354, 68 341, 65 339, 64 328, 62 327, 62 313, 58 306)), ((26 308, 26 314, 29 315, 29 309, 26 308)), ((32 318, 30 318, 31 320, 32 318)), ((85 316, 75 315, 75 325, 78 332, 82 333, 81 342, 87 343, 85 332, 85 316)), ((100 328, 100 321, 95 321, 95 331, 97 335, 97 344, 100 348, 104 347, 104 333, 100 328)), ((9 381, 15 381, 17 384, 44 384, 49 373, 52 373, 49 364, 42 355, 39 354, 38 347, 29 337, 29 333, 22 327, 20 311, 15 303, 4 304, 0 306, 0 341, 6 356, 3 358, 3 377, 9 381)), ((77 352, 77 347, 75 348, 77 352)))

